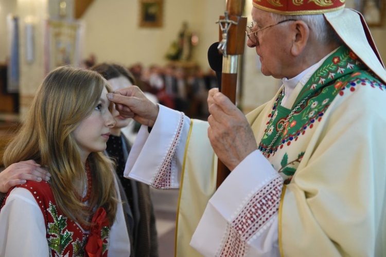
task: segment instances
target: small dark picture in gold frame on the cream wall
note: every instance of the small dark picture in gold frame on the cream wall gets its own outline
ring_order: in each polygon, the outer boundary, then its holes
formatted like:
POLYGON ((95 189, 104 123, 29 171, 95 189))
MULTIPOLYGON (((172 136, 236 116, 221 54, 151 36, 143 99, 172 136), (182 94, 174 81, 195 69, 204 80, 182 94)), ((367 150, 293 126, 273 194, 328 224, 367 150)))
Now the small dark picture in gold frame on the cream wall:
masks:
POLYGON ((163 0, 139 0, 139 27, 162 27, 163 0))

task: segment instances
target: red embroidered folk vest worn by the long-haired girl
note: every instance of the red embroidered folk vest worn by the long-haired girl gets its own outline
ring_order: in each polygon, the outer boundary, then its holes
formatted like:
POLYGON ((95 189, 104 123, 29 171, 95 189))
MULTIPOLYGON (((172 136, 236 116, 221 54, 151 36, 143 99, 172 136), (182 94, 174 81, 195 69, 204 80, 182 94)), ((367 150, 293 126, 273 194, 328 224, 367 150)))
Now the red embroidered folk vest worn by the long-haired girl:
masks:
POLYGON ((103 208, 96 211, 90 232, 83 232, 58 208, 49 183, 27 181, 16 187, 30 191, 42 211, 50 256, 107 256, 110 228, 103 208))

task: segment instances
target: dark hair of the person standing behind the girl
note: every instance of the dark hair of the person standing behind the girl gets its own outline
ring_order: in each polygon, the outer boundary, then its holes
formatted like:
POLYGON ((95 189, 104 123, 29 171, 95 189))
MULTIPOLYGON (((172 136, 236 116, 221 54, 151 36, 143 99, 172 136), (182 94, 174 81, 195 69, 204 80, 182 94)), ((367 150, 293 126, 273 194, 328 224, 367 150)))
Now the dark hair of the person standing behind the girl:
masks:
POLYGON ((133 85, 136 84, 133 74, 127 68, 119 64, 100 63, 97 65, 94 65, 90 69, 98 72, 106 80, 115 79, 120 76, 124 76, 131 82, 131 84, 133 85))

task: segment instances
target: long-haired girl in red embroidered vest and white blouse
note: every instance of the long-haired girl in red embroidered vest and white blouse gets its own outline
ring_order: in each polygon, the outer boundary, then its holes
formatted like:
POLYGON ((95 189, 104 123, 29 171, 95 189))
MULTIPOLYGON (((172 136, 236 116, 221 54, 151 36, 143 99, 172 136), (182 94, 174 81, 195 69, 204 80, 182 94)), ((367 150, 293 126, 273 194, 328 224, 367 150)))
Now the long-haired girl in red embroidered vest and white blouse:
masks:
POLYGON ((0 211, 0 256, 129 256, 112 163, 107 81, 68 66, 40 85, 5 166, 32 159, 50 180, 11 189, 0 211), (110 242, 110 243, 109 243, 110 242))

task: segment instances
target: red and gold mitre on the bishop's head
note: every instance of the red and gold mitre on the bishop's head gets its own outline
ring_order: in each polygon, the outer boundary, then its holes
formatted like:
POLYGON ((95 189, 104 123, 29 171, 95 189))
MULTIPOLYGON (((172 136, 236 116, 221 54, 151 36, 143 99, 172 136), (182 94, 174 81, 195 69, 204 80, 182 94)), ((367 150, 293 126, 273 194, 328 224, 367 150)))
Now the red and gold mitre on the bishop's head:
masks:
POLYGON ((283 15, 318 14, 344 8, 345 0, 252 0, 254 7, 283 15))

